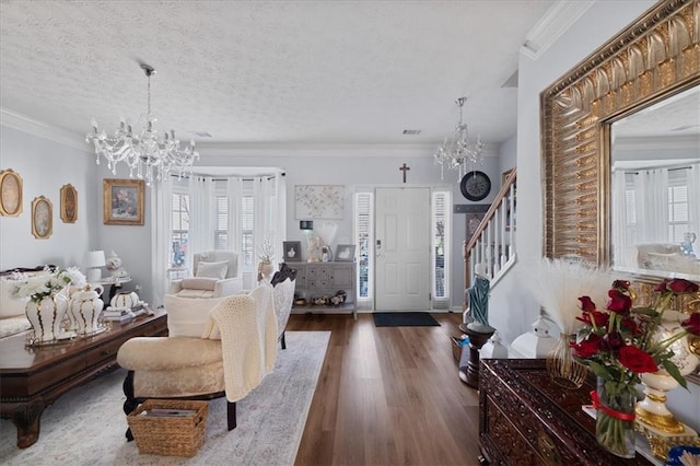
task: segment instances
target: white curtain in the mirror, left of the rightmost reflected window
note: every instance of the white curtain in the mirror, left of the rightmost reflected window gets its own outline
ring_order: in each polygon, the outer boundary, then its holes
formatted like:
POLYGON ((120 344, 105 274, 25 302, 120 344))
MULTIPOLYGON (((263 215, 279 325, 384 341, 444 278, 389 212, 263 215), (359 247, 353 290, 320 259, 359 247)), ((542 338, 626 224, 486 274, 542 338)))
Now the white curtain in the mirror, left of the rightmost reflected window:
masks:
POLYGON ((640 170, 634 178, 639 243, 668 242, 668 170, 640 170))

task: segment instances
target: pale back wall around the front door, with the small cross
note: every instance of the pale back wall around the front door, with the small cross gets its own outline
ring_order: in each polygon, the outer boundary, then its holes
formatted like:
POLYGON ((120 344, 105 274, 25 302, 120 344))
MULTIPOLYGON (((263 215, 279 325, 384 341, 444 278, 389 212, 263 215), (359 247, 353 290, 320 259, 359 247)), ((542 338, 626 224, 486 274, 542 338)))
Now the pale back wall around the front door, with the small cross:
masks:
MULTIPOLYGON (((491 178, 491 193, 479 202, 465 199, 459 191, 456 172, 446 172, 444 180, 440 176, 440 167, 434 165, 432 153, 435 147, 336 147, 327 150, 290 150, 259 151, 255 155, 225 150, 207 151, 200 147, 201 165, 206 166, 277 166, 287 173, 287 240, 302 241, 304 256, 305 243, 303 233, 299 230, 299 220, 294 212, 295 185, 343 185, 345 186, 345 217, 338 221, 336 242, 352 240, 352 194, 359 188, 374 186, 446 186, 452 190, 455 203, 490 203, 500 188, 501 171, 499 167, 498 148, 489 147, 489 156, 478 170, 487 173, 491 178), (406 163, 410 167, 407 172, 407 183, 402 183, 399 167, 406 163)), ((451 306, 462 308, 464 295, 464 260, 462 244, 466 234, 466 219, 464 214, 453 215, 452 242, 452 280, 451 306)))

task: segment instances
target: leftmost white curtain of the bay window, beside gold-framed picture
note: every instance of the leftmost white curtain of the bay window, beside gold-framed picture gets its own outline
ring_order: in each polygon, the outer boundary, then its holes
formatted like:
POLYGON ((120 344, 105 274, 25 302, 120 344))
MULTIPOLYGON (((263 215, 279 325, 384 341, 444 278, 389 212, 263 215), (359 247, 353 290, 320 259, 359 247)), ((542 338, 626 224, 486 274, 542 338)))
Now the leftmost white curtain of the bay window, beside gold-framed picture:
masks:
POLYGON ((171 241, 173 230, 173 183, 159 183, 152 190, 151 196, 151 221, 154 228, 151 229, 151 296, 149 302, 156 308, 163 304, 163 296, 167 292, 170 277, 167 269, 171 268, 171 241))

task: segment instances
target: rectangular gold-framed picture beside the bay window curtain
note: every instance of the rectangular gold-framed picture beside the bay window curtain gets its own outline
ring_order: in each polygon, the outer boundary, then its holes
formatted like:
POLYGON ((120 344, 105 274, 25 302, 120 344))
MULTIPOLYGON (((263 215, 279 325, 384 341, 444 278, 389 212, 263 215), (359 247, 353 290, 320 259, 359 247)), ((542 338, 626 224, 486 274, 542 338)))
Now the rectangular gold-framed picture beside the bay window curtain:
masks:
POLYGON ((143 185, 142 179, 103 182, 105 225, 143 224, 143 185))

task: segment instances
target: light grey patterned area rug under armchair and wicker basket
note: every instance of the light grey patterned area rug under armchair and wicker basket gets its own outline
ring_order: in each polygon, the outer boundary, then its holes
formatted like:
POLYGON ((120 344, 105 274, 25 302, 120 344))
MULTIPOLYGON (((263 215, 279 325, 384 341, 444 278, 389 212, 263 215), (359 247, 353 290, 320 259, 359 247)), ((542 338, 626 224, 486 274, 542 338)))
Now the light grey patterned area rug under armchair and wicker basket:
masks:
POLYGON ((205 444, 191 458, 139 454, 127 442, 119 369, 68 392, 42 416, 39 440, 16 446, 16 430, 0 421, 2 465, 292 465, 301 442, 330 331, 288 331, 275 372, 236 404, 238 426, 226 430, 224 398, 209 403, 205 444))

